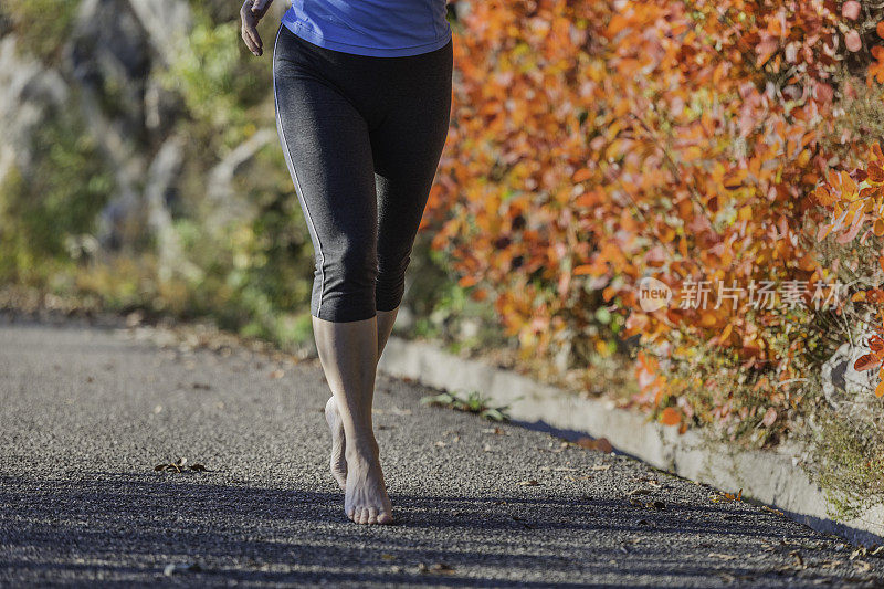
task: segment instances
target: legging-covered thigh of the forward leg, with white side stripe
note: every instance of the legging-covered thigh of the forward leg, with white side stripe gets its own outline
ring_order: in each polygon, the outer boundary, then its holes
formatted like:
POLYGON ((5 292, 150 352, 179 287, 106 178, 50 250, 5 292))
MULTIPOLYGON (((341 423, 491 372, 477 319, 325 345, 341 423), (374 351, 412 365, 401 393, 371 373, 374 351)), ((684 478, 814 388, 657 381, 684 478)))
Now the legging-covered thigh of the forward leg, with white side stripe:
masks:
POLYGON ((276 124, 317 263, 377 255, 377 198, 368 126, 296 49, 274 51, 276 124))

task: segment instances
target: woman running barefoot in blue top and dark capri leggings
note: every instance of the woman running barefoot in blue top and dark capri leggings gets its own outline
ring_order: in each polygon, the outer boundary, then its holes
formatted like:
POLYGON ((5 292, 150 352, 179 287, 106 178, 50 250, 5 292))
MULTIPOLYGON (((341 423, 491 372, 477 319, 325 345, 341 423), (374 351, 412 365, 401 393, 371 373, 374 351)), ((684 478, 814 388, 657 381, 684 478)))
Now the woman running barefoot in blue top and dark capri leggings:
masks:
MULTIPOLYGON (((273 0, 246 0, 242 38, 273 0)), ((316 254, 311 315, 332 398, 332 474, 359 524, 390 524, 375 376, 449 128, 445 0, 294 0, 273 49, 276 127, 316 254)))

